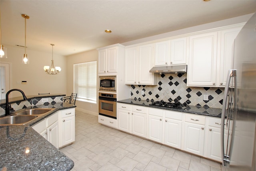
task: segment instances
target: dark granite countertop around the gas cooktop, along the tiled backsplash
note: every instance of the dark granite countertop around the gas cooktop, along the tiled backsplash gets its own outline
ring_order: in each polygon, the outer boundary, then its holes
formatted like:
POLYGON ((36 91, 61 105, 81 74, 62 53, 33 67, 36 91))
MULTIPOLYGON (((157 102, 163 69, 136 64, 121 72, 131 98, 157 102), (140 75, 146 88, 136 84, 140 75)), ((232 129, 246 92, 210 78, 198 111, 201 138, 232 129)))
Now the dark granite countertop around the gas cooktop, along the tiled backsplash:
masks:
POLYGON ((213 107, 202 107, 202 106, 191 106, 188 105, 186 109, 173 109, 168 107, 160 107, 160 106, 153 106, 149 105, 152 103, 152 101, 146 101, 146 100, 140 100, 140 99, 124 99, 117 101, 118 103, 126 103, 126 104, 132 104, 132 105, 141 105, 146 107, 154 107, 159 109, 166 109, 166 110, 172 110, 172 111, 181 111, 186 113, 193 113, 193 114, 200 114, 200 115, 208 115, 208 116, 214 116, 214 117, 221 117, 222 109, 213 108, 213 107))

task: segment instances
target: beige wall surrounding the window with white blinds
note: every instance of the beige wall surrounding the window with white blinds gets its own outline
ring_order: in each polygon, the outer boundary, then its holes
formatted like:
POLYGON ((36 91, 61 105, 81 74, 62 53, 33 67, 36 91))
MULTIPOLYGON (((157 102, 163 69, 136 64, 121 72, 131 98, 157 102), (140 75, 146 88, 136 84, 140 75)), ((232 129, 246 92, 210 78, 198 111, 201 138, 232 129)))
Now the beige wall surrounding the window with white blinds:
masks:
MULTIPOLYGON (((74 64, 98 61, 98 51, 91 50, 67 56, 67 93, 73 92, 74 64)), ((96 104, 76 100, 76 109, 98 115, 98 100, 96 104)))

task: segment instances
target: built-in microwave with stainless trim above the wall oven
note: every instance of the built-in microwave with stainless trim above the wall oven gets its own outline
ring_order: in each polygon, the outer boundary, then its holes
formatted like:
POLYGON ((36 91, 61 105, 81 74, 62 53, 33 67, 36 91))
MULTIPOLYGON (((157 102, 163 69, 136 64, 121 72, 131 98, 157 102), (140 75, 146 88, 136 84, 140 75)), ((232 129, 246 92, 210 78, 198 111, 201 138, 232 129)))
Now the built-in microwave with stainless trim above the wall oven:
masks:
POLYGON ((116 76, 99 76, 99 90, 116 91, 116 76))

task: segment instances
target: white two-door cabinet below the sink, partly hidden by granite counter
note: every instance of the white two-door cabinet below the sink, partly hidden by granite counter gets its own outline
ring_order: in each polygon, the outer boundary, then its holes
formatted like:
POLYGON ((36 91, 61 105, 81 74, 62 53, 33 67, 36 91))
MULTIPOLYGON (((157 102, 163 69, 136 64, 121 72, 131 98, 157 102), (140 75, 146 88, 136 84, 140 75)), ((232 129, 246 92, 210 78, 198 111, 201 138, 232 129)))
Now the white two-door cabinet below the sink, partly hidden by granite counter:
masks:
POLYGON ((36 123, 32 128, 40 133, 52 145, 58 148, 58 112, 36 123))

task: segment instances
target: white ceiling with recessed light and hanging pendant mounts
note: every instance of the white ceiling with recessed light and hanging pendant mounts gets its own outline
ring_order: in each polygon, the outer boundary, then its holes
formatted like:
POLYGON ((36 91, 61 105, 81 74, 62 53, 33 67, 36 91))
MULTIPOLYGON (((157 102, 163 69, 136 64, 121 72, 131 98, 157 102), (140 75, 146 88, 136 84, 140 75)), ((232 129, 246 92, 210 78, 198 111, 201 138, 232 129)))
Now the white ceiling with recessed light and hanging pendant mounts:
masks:
POLYGON ((256 0, 0 0, 2 44, 67 56, 256 11, 256 0), (110 29, 107 34, 104 30, 110 29))

